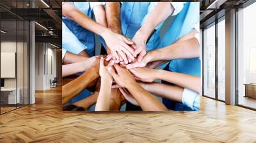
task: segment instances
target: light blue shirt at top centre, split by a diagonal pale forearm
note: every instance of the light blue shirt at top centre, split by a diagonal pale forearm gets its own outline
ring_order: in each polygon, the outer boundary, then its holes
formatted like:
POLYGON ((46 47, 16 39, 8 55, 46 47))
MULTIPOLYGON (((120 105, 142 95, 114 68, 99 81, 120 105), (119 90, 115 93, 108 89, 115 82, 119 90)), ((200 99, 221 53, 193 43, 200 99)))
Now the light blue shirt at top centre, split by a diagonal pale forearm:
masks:
MULTIPOLYGON (((132 39, 140 29, 143 21, 147 19, 156 2, 123 2, 121 5, 121 25, 125 36, 132 39)), ((156 31, 147 42, 147 51, 154 50, 160 43, 159 31, 163 23, 156 27, 156 31)))

